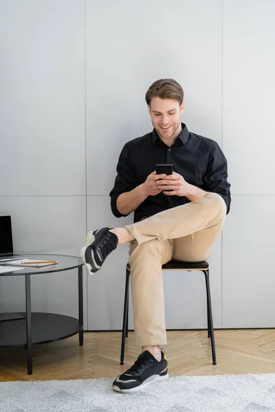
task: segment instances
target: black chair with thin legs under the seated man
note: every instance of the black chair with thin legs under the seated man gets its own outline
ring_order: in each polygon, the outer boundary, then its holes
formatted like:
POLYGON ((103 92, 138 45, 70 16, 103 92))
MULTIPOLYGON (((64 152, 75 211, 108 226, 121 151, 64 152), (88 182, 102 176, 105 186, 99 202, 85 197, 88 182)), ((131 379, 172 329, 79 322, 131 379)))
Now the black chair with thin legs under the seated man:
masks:
MULTIPOLYGON (((207 324, 208 324, 208 338, 211 338, 212 348, 212 364, 217 365, 216 349, 214 343, 214 328, 212 318, 212 306, 210 297, 210 282, 209 282, 209 264, 208 262, 180 262, 177 260, 170 260, 162 265, 163 271, 201 271, 206 278, 206 299, 207 299, 207 324)), ((129 320, 129 281, 131 268, 129 263, 126 264, 126 283, 124 295, 124 312, 122 325, 122 341, 120 353, 120 365, 124 365, 125 354, 125 339, 128 337, 128 320, 129 320)))

